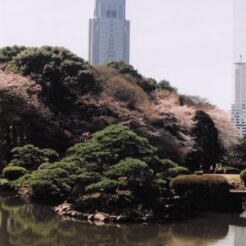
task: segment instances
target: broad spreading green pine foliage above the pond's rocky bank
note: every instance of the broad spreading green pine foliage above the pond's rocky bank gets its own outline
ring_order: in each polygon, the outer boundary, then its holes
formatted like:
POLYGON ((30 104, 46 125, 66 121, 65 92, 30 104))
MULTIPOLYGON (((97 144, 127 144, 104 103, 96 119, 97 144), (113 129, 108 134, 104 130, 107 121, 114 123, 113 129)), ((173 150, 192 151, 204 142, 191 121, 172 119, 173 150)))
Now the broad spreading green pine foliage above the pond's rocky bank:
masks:
POLYGON ((128 127, 111 125, 93 134, 88 142, 71 147, 61 161, 42 164, 17 183, 31 186, 34 199, 59 200, 72 191, 79 196, 117 188, 156 190, 155 172, 165 170, 147 139, 128 127))

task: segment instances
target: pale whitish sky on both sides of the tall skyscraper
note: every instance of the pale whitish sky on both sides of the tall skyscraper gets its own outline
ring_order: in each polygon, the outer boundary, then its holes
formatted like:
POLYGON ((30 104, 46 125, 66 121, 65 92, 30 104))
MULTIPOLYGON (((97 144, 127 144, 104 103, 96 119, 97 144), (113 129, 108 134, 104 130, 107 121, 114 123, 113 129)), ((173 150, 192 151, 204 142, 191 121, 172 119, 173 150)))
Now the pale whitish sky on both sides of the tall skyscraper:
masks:
MULTIPOLYGON (((130 63, 147 77, 169 80, 180 93, 206 97, 229 110, 233 0, 126 2, 130 63)), ((93 9, 94 0, 0 0, 0 47, 64 46, 87 60, 93 9)))

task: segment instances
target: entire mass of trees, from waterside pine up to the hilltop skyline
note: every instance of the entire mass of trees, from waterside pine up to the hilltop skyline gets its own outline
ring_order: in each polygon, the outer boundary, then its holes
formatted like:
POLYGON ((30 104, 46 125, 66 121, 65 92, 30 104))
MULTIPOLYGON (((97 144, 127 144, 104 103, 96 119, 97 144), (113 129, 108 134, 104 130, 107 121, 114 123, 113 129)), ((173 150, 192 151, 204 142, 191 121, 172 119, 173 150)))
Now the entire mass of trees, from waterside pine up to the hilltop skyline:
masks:
POLYGON ((35 201, 86 213, 165 217, 178 206, 172 178, 246 167, 229 114, 131 65, 14 46, 0 49, 0 68, 0 189, 28 187, 35 201))

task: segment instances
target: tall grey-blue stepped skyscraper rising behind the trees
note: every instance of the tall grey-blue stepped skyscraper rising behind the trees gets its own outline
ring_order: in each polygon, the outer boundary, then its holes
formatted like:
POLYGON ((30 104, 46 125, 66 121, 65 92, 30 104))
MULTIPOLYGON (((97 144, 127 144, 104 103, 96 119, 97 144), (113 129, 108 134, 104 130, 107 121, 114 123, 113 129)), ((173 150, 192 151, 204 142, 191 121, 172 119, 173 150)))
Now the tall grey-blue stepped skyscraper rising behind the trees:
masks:
POLYGON ((130 22, 125 17, 125 0, 96 0, 89 26, 89 62, 129 63, 130 22))

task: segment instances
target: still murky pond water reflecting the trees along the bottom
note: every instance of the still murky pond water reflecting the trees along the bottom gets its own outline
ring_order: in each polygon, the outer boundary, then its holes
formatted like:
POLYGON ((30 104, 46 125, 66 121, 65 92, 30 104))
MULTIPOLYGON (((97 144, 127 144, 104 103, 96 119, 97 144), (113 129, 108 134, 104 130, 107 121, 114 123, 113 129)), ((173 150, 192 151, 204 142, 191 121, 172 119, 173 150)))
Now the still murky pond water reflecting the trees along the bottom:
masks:
POLYGON ((0 195, 0 246, 245 246, 246 219, 203 214, 168 225, 95 225, 66 221, 50 207, 0 195))

